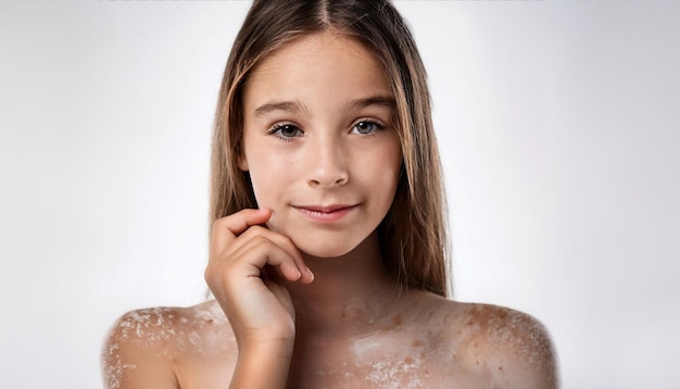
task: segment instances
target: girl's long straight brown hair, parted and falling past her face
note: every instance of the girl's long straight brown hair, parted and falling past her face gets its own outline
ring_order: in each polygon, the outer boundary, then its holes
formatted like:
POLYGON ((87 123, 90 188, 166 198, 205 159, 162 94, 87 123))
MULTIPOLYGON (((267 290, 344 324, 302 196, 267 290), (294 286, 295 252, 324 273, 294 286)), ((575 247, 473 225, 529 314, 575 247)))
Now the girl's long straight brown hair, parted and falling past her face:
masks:
POLYGON ((242 90, 252 70, 302 35, 332 30, 368 47, 396 100, 403 166, 394 201, 378 227, 388 271, 401 285, 446 296, 448 239, 439 151, 420 55, 387 0, 255 0, 234 42, 222 80, 212 150, 211 225, 256 208, 248 173, 237 166, 243 136, 242 90))

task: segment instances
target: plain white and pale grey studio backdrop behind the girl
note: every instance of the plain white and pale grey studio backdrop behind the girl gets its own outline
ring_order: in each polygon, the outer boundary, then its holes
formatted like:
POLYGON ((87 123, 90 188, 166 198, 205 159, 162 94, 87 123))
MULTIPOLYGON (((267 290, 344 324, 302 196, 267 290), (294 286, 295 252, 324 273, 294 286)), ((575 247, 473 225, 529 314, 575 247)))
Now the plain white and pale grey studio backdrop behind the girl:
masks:
MULTIPOLYGON (((680 388, 680 2, 395 4, 455 298, 541 319, 565 388, 680 388)), ((211 124, 249 7, 0 1, 2 387, 100 387, 121 314, 203 299, 211 124)))

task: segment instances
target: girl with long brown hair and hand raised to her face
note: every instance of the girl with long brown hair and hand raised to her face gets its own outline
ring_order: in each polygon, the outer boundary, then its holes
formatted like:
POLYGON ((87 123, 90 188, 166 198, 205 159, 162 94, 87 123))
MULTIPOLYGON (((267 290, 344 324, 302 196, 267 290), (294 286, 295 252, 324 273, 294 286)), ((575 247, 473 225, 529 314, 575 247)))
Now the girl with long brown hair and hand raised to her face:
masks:
POLYGON ((445 299, 425 78, 387 1, 254 1, 217 105, 215 299, 124 315, 106 387, 557 387, 536 319, 445 299))

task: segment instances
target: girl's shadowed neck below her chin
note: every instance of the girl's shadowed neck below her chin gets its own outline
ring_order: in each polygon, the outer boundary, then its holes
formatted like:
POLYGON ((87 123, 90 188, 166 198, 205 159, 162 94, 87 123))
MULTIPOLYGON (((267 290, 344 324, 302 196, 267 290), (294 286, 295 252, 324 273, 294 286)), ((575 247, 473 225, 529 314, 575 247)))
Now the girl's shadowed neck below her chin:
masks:
POLYGON ((398 283, 387 275, 375 234, 343 256, 305 262, 314 283, 288 285, 298 336, 361 336, 379 328, 396 303, 398 283))

